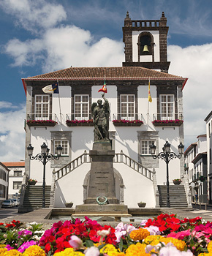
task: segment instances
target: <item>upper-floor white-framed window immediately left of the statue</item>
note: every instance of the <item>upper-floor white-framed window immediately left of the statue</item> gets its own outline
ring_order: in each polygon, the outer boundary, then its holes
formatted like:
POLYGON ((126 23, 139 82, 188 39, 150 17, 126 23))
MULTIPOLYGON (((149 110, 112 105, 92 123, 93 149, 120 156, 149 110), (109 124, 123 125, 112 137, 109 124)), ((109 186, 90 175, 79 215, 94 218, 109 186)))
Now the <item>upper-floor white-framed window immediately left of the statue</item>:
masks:
POLYGON ((88 120, 89 96, 75 94, 75 119, 88 120))

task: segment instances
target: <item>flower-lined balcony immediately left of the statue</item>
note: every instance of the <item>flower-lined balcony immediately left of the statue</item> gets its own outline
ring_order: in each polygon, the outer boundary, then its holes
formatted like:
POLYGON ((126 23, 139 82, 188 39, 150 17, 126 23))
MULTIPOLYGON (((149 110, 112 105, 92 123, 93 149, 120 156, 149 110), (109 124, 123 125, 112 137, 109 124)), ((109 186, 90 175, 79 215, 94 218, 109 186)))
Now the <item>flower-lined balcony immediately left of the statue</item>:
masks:
POLYGON ((68 127, 93 127, 93 119, 91 114, 67 114, 67 126, 68 127))

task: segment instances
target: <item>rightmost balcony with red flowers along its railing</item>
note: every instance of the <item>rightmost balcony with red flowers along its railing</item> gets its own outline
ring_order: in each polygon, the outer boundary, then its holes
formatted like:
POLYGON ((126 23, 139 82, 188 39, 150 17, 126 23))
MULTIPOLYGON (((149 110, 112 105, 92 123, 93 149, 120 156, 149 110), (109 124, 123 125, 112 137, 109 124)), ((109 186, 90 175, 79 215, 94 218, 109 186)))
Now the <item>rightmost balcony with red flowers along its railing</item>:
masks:
POLYGON ((156 127, 180 127, 183 124, 183 115, 156 113, 153 114, 153 122, 156 127))

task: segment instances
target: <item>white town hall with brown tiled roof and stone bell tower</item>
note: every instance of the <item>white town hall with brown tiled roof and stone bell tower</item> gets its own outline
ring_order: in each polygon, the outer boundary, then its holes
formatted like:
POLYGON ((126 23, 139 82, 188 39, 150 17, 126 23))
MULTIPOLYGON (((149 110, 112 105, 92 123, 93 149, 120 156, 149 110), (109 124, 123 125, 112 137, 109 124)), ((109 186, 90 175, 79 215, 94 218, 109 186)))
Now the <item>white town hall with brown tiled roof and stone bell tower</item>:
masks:
MULTIPOLYGON (((164 13, 160 20, 131 20, 127 13, 123 28, 123 67, 69 67, 22 79, 26 91, 26 147, 31 143, 34 155, 40 153, 44 142, 51 154, 56 153, 59 144, 63 147, 61 158, 46 166, 46 184, 52 182, 53 169, 58 170, 77 159, 67 165, 64 172, 60 171, 54 206, 62 207, 69 201, 79 205, 86 200, 91 163, 88 156, 83 165, 79 161, 85 150, 92 149, 94 127, 87 121, 91 119, 92 102, 101 98, 98 91, 104 80, 110 102, 113 149, 117 157, 121 151, 126 155, 125 163, 115 160, 113 165, 116 196, 129 208, 137 207, 140 201, 146 202, 147 207, 156 206, 152 177, 147 177, 146 169, 137 172, 136 162, 151 171, 155 168, 157 184, 166 182, 166 164, 153 159, 149 147, 154 142, 158 154, 168 140, 171 150, 178 153, 178 144, 183 143, 182 90, 187 80, 168 74, 167 31, 164 13), (149 80, 152 102, 148 102, 149 80), (57 81, 59 95, 42 91, 57 81), (116 120, 135 121, 135 124, 116 120)), ((183 161, 183 158, 170 161, 171 183, 173 178, 183 176, 183 161)), ((43 165, 30 161, 27 151, 26 175, 42 185, 43 165)))

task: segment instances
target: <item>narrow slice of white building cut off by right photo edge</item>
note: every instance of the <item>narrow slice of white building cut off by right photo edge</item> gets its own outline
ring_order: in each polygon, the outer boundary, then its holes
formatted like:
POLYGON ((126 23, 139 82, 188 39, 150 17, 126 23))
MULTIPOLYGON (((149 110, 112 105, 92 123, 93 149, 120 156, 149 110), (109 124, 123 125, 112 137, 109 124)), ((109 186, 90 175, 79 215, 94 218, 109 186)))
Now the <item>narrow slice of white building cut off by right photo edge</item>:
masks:
POLYGON ((208 167, 208 203, 212 203, 212 163, 211 163, 211 151, 212 151, 212 111, 205 118, 206 122, 206 134, 207 134, 207 167, 208 167))

